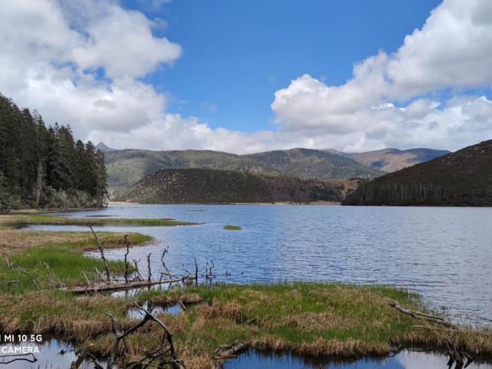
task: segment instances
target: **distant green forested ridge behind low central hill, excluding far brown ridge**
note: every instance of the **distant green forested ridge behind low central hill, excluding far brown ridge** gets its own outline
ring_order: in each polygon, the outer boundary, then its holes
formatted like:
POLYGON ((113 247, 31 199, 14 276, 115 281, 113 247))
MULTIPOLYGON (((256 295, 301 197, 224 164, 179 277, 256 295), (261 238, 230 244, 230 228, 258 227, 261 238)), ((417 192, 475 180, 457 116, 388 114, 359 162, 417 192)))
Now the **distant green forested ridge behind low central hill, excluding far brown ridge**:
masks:
POLYGON ((105 151, 105 160, 109 174, 108 185, 115 193, 158 169, 225 169, 301 179, 373 178, 382 175, 381 171, 366 167, 346 156, 311 149, 267 151, 248 155, 212 150, 109 149, 105 151))

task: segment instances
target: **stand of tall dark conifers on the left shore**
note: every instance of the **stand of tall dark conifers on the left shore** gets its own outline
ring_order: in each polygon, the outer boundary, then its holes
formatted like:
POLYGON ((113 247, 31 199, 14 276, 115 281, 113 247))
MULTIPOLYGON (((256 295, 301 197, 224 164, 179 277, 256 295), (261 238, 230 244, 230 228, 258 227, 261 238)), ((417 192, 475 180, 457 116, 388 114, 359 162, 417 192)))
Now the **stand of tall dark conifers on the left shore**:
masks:
POLYGON ((103 207, 106 187, 104 155, 90 141, 0 94, 0 211, 103 207))

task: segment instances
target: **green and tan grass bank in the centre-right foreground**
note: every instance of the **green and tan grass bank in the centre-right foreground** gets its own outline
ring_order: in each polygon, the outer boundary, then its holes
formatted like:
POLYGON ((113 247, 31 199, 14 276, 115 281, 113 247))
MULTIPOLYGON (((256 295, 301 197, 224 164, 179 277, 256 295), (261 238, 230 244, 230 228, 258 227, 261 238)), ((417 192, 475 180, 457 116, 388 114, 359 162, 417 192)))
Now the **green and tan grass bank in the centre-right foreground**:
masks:
POLYGON ((419 295, 402 289, 327 283, 201 286, 149 291, 139 299, 207 302, 165 317, 176 344, 191 352, 191 359, 200 358, 203 366, 191 368, 212 368, 214 350, 235 340, 262 350, 345 358, 385 356, 399 346, 442 349, 449 343, 492 355, 490 330, 449 331, 402 315, 388 305, 388 297, 429 312, 419 295))

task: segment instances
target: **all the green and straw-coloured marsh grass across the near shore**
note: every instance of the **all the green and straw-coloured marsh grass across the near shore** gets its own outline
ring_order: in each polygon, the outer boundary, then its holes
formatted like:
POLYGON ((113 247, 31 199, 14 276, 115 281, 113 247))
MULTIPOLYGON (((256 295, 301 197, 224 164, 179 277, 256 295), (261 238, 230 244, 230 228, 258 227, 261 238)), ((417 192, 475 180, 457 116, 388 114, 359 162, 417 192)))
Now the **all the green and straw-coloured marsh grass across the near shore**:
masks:
MULTIPOLYGON (((60 224, 59 218, 54 219, 50 224, 60 224)), ((123 233, 97 234, 105 248, 125 246, 123 233)), ((135 245, 150 238, 131 233, 129 240, 135 245)), ((1 227, 0 333, 54 335, 75 341, 79 350, 107 355, 114 334, 105 313, 114 315, 121 329, 134 326, 136 320, 127 316, 132 300, 105 295, 74 297, 59 291, 50 286, 42 264, 48 263, 53 279, 65 286, 85 285, 82 271, 104 268, 101 260, 83 256, 83 251, 95 248, 88 232, 1 227), (23 271, 30 273, 38 286, 23 271)), ((124 271, 123 262, 110 262, 109 267, 115 275, 124 271)), ((173 333, 177 355, 188 369, 214 368, 216 348, 234 341, 251 348, 352 359, 389 355, 400 346, 447 349, 450 344, 470 355, 492 355, 490 330, 447 328, 389 306, 389 299, 394 299, 404 308, 429 312, 418 295, 398 288, 304 282, 216 284, 145 291, 136 299, 153 304, 178 302, 187 307, 177 315, 161 313, 158 317, 173 333)), ((156 348, 152 336, 158 335, 158 329, 157 324, 150 324, 129 335, 127 357, 137 359, 156 348)))

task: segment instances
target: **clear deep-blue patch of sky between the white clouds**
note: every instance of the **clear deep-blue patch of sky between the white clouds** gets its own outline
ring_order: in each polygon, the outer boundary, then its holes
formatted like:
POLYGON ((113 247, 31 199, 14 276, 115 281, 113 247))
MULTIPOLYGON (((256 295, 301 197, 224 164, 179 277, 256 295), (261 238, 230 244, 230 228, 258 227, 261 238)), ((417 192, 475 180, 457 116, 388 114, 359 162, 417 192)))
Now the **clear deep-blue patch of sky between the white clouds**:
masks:
POLYGON ((274 127, 274 92, 291 79, 307 73, 331 85, 345 83, 353 63, 380 49, 396 51, 438 3, 174 0, 159 7, 143 1, 123 5, 165 19, 167 29, 154 32, 183 48, 172 67, 146 78, 172 96, 170 112, 251 133, 274 127))

